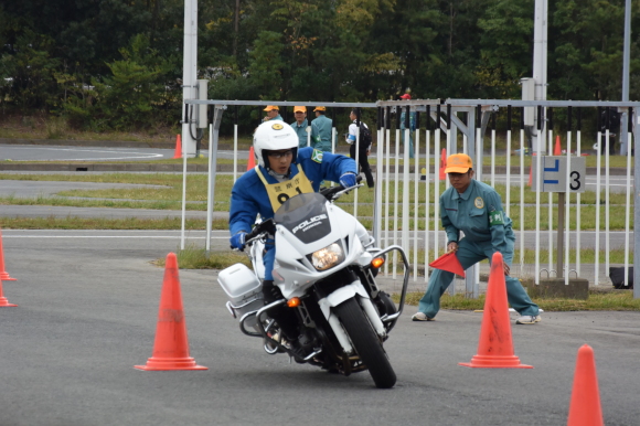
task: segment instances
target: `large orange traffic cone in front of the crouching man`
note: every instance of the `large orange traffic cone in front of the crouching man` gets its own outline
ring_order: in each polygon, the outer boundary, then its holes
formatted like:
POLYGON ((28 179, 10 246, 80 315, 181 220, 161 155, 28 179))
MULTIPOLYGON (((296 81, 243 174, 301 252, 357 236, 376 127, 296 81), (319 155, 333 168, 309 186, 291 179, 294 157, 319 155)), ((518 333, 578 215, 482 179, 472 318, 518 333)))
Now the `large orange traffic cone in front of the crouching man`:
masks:
POLYGON ((460 362, 460 365, 481 369, 533 369, 531 365, 521 364, 513 353, 503 268, 502 255, 497 252, 491 259, 478 354, 471 362, 460 362))

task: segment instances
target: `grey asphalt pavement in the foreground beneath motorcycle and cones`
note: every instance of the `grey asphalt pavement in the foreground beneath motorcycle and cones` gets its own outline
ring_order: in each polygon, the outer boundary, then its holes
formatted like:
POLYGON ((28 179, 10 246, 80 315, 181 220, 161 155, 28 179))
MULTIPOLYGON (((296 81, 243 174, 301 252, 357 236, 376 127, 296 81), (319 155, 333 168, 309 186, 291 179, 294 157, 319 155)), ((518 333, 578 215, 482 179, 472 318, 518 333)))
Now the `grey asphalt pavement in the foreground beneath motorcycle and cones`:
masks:
POLYGON ((180 270, 190 355, 209 370, 135 370, 152 355, 158 323, 163 269, 152 262, 179 241, 179 232, 3 231, 6 271, 18 279, 2 281, 3 295, 18 307, 0 307, 0 425, 559 425, 585 343, 605 424, 640 418, 640 312, 544 312, 511 328, 515 355, 534 369, 468 369, 458 363, 478 352, 482 313, 413 322, 406 307, 385 343, 398 381, 381 391, 367 373, 265 353, 224 307, 215 270, 180 270))

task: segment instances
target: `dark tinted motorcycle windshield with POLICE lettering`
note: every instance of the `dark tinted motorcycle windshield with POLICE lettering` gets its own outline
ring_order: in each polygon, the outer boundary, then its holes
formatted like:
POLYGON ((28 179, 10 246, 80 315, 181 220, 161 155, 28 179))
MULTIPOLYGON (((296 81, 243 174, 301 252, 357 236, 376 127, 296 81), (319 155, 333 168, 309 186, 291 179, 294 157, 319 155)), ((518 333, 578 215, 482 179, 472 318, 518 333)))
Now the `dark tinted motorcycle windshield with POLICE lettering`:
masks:
POLYGON ((317 192, 298 194, 285 201, 274 215, 302 243, 312 243, 331 232, 327 215, 327 199, 317 192))

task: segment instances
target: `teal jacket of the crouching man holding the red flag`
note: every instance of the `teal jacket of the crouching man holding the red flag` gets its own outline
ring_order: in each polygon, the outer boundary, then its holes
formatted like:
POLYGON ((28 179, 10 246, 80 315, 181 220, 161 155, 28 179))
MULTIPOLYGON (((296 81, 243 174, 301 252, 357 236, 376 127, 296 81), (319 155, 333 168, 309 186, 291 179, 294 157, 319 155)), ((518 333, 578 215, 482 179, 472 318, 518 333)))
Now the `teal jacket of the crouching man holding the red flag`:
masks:
POLYGON ((440 219, 448 242, 458 242, 460 231, 471 242, 491 242, 494 253, 508 251, 508 239, 515 241, 511 219, 502 210, 500 194, 474 179, 463 193, 454 187, 440 195, 440 219))

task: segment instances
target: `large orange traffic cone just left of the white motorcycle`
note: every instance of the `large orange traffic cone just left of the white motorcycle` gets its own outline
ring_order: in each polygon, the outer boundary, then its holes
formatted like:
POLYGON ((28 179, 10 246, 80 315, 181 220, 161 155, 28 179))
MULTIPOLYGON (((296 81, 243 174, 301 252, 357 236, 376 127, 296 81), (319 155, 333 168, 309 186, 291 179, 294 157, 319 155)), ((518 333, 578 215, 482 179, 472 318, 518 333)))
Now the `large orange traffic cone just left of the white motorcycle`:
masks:
POLYGON ((195 360, 189 356, 175 253, 167 255, 153 355, 147 361, 147 365, 135 365, 135 368, 146 371, 207 370, 206 366, 196 365, 195 360))

